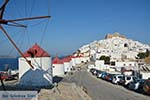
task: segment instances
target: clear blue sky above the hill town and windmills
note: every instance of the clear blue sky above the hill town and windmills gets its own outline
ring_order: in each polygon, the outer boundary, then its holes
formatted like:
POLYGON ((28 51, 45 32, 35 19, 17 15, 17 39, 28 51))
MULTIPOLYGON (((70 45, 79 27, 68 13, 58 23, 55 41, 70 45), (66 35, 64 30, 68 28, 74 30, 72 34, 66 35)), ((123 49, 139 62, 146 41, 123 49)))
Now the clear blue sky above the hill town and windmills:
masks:
MULTIPOLYGON (((23 37, 21 38, 22 43, 16 42, 18 46, 22 46, 22 51, 37 42, 51 55, 67 55, 75 52, 84 44, 103 39, 107 33, 114 32, 120 32, 133 40, 150 43, 150 0, 50 0, 50 4, 47 1, 36 0, 39 4, 34 5, 31 14, 50 14, 52 16, 46 32, 43 31, 47 23, 47 21, 44 22, 45 20, 42 20, 41 26, 32 27, 31 25, 26 31, 29 36, 24 35, 24 41, 23 37), (47 9, 48 7, 50 10, 47 9), (44 38, 40 43, 42 34, 44 38), (30 43, 26 40, 30 40, 30 43), (30 45, 23 45, 23 43, 30 45)), ((12 0, 8 4, 5 18, 12 19, 23 15, 28 17, 30 14, 18 14, 17 12, 29 13, 33 2, 34 0, 27 0, 24 3, 23 0, 12 0), (23 9, 25 6, 30 9, 23 9)), ((27 25, 34 23, 38 22, 32 21, 27 25)), ((21 30, 7 27, 6 29, 12 36, 21 30)), ((15 41, 19 41, 17 36, 13 37, 15 41)), ((0 55, 8 54, 13 47, 5 40, 2 33, 0 37, 2 37, 0 48, 3 48, 0 50, 0 55)), ((13 50, 13 53, 10 54, 15 55, 16 51, 13 50)))

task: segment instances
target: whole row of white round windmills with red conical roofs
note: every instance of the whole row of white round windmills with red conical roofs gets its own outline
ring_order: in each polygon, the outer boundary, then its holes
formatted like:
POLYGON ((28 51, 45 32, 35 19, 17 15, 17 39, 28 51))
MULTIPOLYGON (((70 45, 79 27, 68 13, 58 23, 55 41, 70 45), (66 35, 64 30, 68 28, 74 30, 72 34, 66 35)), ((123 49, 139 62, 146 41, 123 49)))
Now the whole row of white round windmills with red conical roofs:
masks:
POLYGON ((48 86, 53 84, 53 77, 63 77, 71 72, 77 64, 89 62, 89 57, 67 56, 59 59, 57 56, 52 60, 50 54, 38 44, 33 45, 23 54, 34 68, 31 68, 27 61, 19 58, 19 83, 23 86, 48 86))

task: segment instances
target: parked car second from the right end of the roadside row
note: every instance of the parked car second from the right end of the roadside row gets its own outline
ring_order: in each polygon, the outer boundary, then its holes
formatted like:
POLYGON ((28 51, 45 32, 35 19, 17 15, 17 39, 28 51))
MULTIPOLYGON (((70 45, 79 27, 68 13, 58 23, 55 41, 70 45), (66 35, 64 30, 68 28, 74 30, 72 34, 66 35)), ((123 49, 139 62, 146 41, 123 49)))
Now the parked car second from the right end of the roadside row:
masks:
POLYGON ((142 91, 144 81, 144 79, 136 79, 133 82, 129 83, 128 88, 134 91, 142 91))

